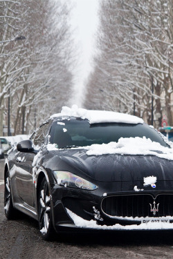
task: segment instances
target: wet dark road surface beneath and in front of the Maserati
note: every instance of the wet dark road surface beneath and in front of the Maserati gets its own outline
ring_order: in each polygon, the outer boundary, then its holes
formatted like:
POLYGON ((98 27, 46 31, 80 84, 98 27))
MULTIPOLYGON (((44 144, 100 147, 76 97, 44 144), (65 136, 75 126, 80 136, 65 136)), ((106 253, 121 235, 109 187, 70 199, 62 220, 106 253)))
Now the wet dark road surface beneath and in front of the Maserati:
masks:
POLYGON ((8 221, 3 213, 0 160, 0 259, 165 259, 173 258, 173 231, 64 234, 52 242, 39 236, 37 222, 25 215, 8 221))

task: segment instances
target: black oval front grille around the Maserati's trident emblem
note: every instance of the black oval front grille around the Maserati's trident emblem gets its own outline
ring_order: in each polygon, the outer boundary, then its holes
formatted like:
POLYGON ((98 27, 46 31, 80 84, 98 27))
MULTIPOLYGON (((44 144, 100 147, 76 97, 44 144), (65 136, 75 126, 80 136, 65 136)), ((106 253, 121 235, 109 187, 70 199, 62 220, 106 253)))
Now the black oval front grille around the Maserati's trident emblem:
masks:
POLYGON ((158 211, 151 211, 154 208, 152 195, 118 195, 110 196, 102 200, 102 211, 112 217, 165 217, 173 216, 173 195, 157 195, 156 208, 158 211))

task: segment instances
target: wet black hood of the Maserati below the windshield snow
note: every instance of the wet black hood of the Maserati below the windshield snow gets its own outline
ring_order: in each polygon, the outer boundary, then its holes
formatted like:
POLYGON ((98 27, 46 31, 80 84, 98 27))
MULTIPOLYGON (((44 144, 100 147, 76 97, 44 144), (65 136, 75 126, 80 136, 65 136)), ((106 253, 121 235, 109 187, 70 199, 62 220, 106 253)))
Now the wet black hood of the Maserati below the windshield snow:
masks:
POLYGON ((155 176, 173 180, 173 161, 155 155, 86 155, 83 149, 51 151, 45 164, 52 170, 71 171, 104 182, 134 182, 155 176), (50 157, 51 156, 51 157, 50 157))

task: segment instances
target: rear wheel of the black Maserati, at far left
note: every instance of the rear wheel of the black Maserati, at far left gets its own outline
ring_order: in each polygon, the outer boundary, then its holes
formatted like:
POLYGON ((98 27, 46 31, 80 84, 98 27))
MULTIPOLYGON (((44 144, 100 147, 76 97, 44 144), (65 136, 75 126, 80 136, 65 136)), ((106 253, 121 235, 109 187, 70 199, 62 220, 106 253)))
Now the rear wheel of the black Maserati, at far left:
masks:
POLYGON ((15 220, 17 218, 17 211, 12 204, 12 194, 10 188, 10 178, 8 171, 4 179, 4 211, 8 220, 15 220))

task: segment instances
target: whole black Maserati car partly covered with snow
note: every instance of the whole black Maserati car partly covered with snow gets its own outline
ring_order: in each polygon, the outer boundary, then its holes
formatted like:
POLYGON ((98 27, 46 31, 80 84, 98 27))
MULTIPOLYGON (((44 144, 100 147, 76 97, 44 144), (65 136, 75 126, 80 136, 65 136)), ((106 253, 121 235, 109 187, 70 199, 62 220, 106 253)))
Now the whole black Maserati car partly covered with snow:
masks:
POLYGON ((4 209, 72 230, 173 229, 173 149, 135 116, 64 110, 8 152, 4 209))

